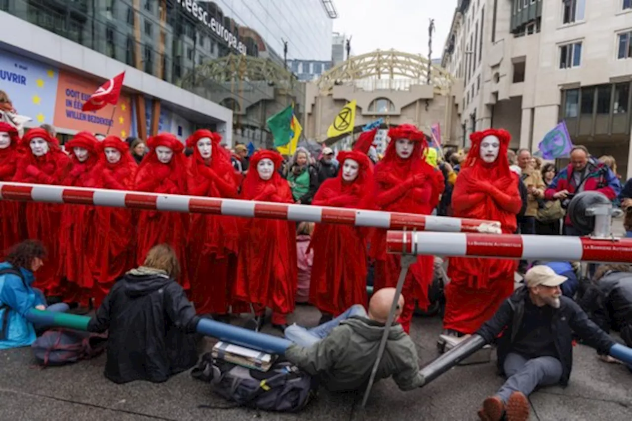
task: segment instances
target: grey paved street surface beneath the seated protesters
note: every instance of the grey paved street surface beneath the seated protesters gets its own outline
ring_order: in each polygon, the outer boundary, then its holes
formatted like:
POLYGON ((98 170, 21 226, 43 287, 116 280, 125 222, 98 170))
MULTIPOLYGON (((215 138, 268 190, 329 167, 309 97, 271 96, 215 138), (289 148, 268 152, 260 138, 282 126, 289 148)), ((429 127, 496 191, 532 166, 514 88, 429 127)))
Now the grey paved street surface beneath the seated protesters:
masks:
MULTIPOLYGON (((319 312, 300 306, 298 323, 313 325, 319 312)), ((411 329, 423 364, 436 355, 441 330, 437 318, 416 318, 411 329)), ((271 331, 270 331, 271 332, 271 331)), ((206 347, 210 347, 210 341, 206 347)), ((605 364, 590 348, 574 348, 574 370, 566 389, 549 388, 532 395, 532 420, 630 420, 632 374, 617 364, 605 364)), ((390 379, 375 386, 366 410, 362 396, 331 395, 322 391, 300 415, 258 413, 224 406, 209 386, 188 372, 163 384, 114 384, 102 375, 105 358, 67 367, 39 369, 30 349, 0 352, 0 421, 76 420, 476 420, 478 405, 501 377, 492 364, 455 367, 425 388, 403 393, 390 379)))

